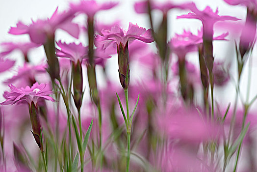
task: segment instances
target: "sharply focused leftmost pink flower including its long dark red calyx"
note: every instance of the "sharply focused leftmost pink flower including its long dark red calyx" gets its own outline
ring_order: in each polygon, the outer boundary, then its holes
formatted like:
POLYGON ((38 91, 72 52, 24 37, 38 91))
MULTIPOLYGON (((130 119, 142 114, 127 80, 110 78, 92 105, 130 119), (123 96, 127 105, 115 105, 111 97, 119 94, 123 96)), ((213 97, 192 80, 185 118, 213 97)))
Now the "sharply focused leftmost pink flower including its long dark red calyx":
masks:
POLYGON ((38 102, 40 99, 46 99, 54 102, 54 99, 50 96, 53 94, 51 87, 48 84, 38 84, 35 83, 33 86, 26 86, 25 88, 16 88, 12 84, 8 85, 11 88, 10 92, 4 93, 4 102, 1 105, 13 105, 16 103, 28 103, 29 105, 29 115, 32 125, 32 134, 38 144, 41 152, 43 152, 43 143, 41 142, 41 124, 38 115, 38 102))

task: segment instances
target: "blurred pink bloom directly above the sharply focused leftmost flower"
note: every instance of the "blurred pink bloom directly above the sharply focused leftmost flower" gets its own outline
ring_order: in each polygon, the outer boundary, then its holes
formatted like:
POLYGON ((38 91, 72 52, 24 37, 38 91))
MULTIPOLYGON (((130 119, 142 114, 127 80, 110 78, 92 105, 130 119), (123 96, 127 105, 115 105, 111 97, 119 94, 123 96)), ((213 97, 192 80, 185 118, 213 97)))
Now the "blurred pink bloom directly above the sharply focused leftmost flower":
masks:
POLYGON ((17 87, 32 86, 36 82, 36 75, 45 73, 47 64, 31 65, 25 63, 24 66, 18 68, 18 73, 12 78, 4 81, 4 84, 14 84, 17 87))

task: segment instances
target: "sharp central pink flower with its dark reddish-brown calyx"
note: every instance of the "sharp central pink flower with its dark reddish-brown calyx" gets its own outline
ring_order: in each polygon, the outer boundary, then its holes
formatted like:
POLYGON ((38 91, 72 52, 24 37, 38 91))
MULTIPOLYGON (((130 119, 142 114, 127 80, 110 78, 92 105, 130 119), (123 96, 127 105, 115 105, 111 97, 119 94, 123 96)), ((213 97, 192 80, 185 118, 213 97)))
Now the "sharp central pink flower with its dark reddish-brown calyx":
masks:
POLYGON ((129 23, 128 30, 120 28, 115 25, 110 30, 103 30, 102 35, 97 35, 95 44, 96 47, 101 47, 103 50, 109 46, 117 47, 118 63, 119 63, 119 76, 123 88, 128 88, 129 84, 129 56, 128 56, 128 42, 133 40, 140 40, 145 43, 151 43, 154 38, 151 34, 151 29, 139 28, 137 25, 129 23), (127 74, 128 69, 128 74, 127 74), (128 75, 128 83, 125 83, 126 76, 128 75))

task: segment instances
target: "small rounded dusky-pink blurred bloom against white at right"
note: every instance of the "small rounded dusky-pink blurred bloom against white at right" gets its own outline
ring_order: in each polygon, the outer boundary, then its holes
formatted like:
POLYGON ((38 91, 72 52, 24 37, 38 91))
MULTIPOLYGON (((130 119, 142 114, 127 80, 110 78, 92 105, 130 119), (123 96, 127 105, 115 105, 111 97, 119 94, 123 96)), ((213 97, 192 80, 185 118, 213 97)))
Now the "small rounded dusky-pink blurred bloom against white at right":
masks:
POLYGON ((224 86, 228 83, 230 80, 229 68, 230 65, 225 66, 224 62, 214 62, 212 72, 216 86, 224 86))

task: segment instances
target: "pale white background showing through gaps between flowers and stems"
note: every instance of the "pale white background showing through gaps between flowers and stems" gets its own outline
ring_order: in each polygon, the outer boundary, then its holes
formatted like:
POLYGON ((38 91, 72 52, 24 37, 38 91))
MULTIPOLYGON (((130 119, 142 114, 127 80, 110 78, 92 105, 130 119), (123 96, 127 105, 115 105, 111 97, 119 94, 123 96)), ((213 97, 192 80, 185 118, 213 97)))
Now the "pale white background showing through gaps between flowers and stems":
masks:
MULTIPOLYGON (((28 41, 29 37, 28 35, 11 35, 8 34, 8 30, 10 27, 15 27, 16 23, 21 20, 25 24, 30 24, 31 20, 37 20, 38 18, 47 18, 51 17, 53 11, 58 6, 59 10, 65 10, 68 8, 68 4, 71 0, 0 0, 0 42, 4 41, 28 41)), ((73 0, 76 1, 76 0, 73 0)), ((98 0, 98 1, 107 1, 107 0, 98 0)), ((149 28, 150 25, 148 23, 148 16, 147 15, 138 15, 134 11, 134 2, 138 0, 120 0, 120 4, 107 11, 102 11, 97 13, 96 19, 98 21, 101 21, 103 23, 110 23, 116 20, 120 20, 122 26, 127 29, 129 22, 135 24, 137 23, 138 26, 149 28)), ((156 0, 156 1, 162 1, 162 0, 156 0)), ((184 1, 188 0, 173 0, 177 3, 182 3, 184 1)), ((245 19, 246 16, 246 8, 242 6, 230 6, 227 3, 225 3, 223 0, 194 0, 196 5, 199 9, 203 10, 206 5, 209 5, 214 11, 218 7, 219 15, 231 15, 234 17, 237 17, 239 19, 242 19, 242 22, 245 19)), ((183 29, 190 29, 192 32, 196 33, 197 29, 200 29, 202 26, 201 22, 199 20, 193 20, 193 19, 176 19, 177 15, 186 14, 187 11, 180 11, 180 10, 172 10, 169 13, 169 38, 171 38, 174 33, 181 33, 183 29)), ((157 23, 161 19, 161 14, 158 11, 154 11, 154 22, 157 23)), ((78 23, 83 24, 84 18, 83 16, 79 16, 75 19, 78 23)), ((214 26, 215 29, 215 26, 214 26)), ((220 32, 226 32, 227 30, 217 30, 214 31, 214 33, 218 34, 220 32)), ((234 76, 235 73, 235 50, 234 50, 234 39, 237 39, 240 36, 233 35, 230 33, 228 36, 230 41, 214 41, 214 57, 215 60, 217 59, 225 59, 226 63, 231 63, 231 76, 234 76)), ((57 30, 56 34, 56 40, 62 39, 66 42, 85 42, 86 37, 85 35, 80 35, 79 40, 76 40, 75 38, 71 37, 67 33, 61 30, 57 30)), ((153 47, 154 48, 154 47, 153 47)), ((0 47, 1 50, 1 47, 0 47)), ((43 46, 40 48, 36 48, 32 51, 30 51, 29 57, 31 61, 34 64, 40 63, 45 58, 45 53, 43 50, 43 46)), ((256 47, 254 48, 253 53, 253 63, 252 63, 252 79, 251 79, 251 94, 250 99, 254 97, 257 94, 257 50, 256 47)), ((10 76, 12 76, 14 73, 16 73, 16 69, 19 65, 22 64, 22 56, 18 52, 12 53, 9 58, 16 59, 15 67, 10 72, 5 72, 4 74, 0 75, 0 82, 6 80, 10 76)), ((198 64, 198 57, 196 53, 191 53, 187 57, 190 61, 193 61, 195 64, 198 64)), ((119 82, 118 77, 118 64, 117 64, 117 56, 114 56, 107 60, 107 65, 109 65, 107 73, 111 77, 110 79, 119 82)), ((247 64, 247 66, 249 66, 247 64)), ((137 64, 134 64, 131 66, 131 82, 135 81, 134 78, 142 78, 140 74, 142 74, 142 71, 140 71, 140 66, 137 64), (134 69, 137 69, 136 71, 134 69)), ((248 68, 245 68, 243 71, 242 81, 241 81, 241 88, 242 88, 242 96, 244 97, 246 86, 247 86, 247 79, 248 79, 248 68)), ((103 77, 101 76, 101 72, 97 72, 99 75, 98 83, 101 83, 103 85, 103 77)), ((119 84, 119 83, 118 83, 119 84)), ((88 88, 88 86, 86 86, 88 88)), ((3 100, 2 93, 4 90, 8 89, 7 86, 0 85, 0 101, 3 100)), ((89 88, 88 88, 89 89, 89 88)), ((89 93, 89 91, 86 91, 89 93)), ((234 83, 233 79, 230 81, 228 85, 223 87, 222 89, 215 87, 215 99, 219 102, 220 105, 227 106, 231 100, 233 100, 235 96, 235 89, 234 89, 234 83)), ((89 95, 87 96, 89 97, 89 95)), ((257 104, 253 106, 253 109, 257 109, 257 104)), ((239 104, 240 106, 240 104, 239 104)))

